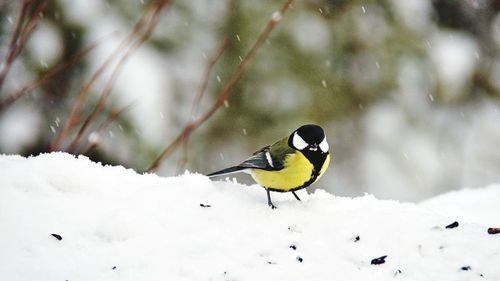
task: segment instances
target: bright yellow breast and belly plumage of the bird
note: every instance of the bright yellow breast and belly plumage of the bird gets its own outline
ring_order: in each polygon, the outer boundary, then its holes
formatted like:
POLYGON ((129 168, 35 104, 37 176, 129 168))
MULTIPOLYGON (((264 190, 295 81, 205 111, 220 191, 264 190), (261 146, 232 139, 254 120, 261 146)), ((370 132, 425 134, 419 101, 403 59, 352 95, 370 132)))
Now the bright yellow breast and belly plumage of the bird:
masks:
MULTIPOLYGON (((316 180, 326 171, 329 162, 330 156, 328 155, 316 180)), ((254 169, 252 176, 263 187, 280 191, 290 191, 309 181, 314 167, 300 152, 288 155, 284 166, 285 168, 279 171, 254 169)))

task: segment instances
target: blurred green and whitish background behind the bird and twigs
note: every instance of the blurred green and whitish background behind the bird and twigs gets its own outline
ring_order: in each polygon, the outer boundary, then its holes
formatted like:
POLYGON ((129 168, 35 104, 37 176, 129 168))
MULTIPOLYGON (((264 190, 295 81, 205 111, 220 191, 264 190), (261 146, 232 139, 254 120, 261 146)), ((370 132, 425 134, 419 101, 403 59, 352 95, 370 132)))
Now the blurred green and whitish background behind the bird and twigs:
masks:
MULTIPOLYGON (((21 2, 0 1, 3 65, 21 2)), ((0 101, 98 44, 0 109, 0 153, 50 151, 82 86, 147 4, 48 1, 5 77, 0 101)), ((98 120, 130 107, 104 130, 93 123, 82 146, 94 146, 74 153, 145 171, 193 118, 208 60, 223 38, 229 45, 210 74, 198 116, 282 4, 174 1, 126 62, 98 120)), ((96 82, 82 116, 98 103, 110 75, 106 69, 96 82)), ((239 163, 301 124, 317 123, 326 130, 333 162, 316 188, 341 196, 366 192, 420 201, 500 182, 499 98, 498 0, 295 1, 225 106, 193 132, 185 165, 178 150, 157 173, 212 172, 239 163)), ((58 149, 67 147, 66 141, 58 149)))

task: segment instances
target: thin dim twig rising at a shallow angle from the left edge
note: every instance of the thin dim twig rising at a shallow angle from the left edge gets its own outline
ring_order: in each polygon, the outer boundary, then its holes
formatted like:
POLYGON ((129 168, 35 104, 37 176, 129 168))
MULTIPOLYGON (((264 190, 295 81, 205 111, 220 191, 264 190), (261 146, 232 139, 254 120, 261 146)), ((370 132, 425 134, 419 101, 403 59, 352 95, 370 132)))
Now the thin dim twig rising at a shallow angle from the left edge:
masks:
MULTIPOLYGON (((113 34, 109 35, 112 36, 113 34)), ((73 55, 69 60, 61 62, 59 64, 56 64, 52 66, 47 72, 45 72, 40 78, 37 80, 31 81, 24 85, 21 89, 11 93, 8 95, 4 100, 0 101, 0 113, 7 107, 9 107, 12 103, 14 103, 17 99, 22 97, 23 95, 31 92, 32 90, 36 89, 43 83, 45 83, 47 80, 51 79, 52 77, 58 75, 62 71, 68 69, 69 67, 75 65, 78 63, 85 55, 87 55, 90 51, 95 49, 104 39, 99 39, 90 44, 87 48, 79 51, 75 55, 73 55)))

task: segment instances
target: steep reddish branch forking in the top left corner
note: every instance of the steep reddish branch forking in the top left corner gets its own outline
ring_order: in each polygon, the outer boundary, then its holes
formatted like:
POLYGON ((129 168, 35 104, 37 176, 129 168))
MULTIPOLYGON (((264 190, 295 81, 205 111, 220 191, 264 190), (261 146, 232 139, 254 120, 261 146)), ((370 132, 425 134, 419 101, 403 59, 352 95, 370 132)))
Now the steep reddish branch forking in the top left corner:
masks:
POLYGON ((12 67, 12 63, 16 57, 21 53, 28 38, 35 29, 38 21, 40 20, 43 9, 47 6, 49 0, 32 1, 22 0, 19 9, 19 14, 12 32, 12 37, 9 42, 7 54, 0 69, 0 91, 2 89, 5 77, 12 67), (33 4, 33 5, 32 5, 33 4), (29 15, 28 22, 23 25, 25 18, 28 16, 28 10, 34 9, 34 12, 29 15))

